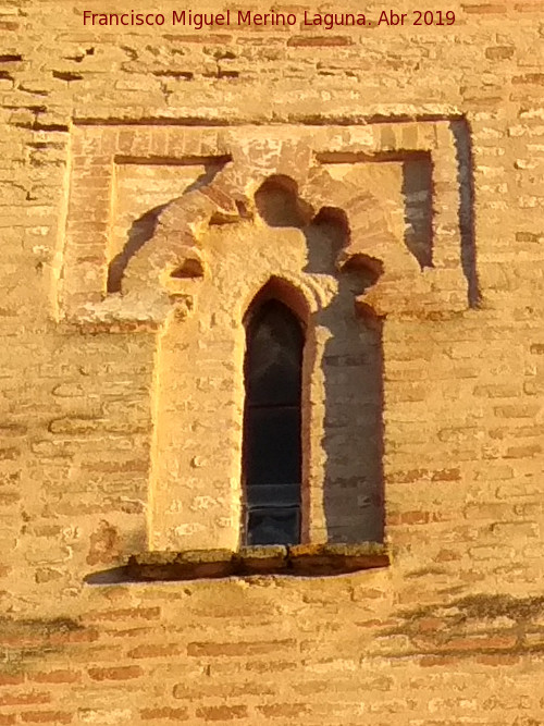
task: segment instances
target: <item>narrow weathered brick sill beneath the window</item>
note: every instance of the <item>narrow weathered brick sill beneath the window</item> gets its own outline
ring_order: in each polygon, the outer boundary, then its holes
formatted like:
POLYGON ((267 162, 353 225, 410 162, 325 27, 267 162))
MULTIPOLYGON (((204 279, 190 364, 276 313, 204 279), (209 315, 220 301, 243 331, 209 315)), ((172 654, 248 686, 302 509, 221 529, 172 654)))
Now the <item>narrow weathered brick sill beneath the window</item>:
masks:
MULTIPOLYGON (((115 568, 114 579, 118 582, 156 582, 250 575, 327 577, 388 565, 386 547, 378 542, 246 546, 237 552, 194 550, 133 554, 124 567, 115 568)), ((110 574, 113 575, 113 570, 110 574)), ((107 573, 96 573, 86 580, 96 585, 112 581, 107 573)))

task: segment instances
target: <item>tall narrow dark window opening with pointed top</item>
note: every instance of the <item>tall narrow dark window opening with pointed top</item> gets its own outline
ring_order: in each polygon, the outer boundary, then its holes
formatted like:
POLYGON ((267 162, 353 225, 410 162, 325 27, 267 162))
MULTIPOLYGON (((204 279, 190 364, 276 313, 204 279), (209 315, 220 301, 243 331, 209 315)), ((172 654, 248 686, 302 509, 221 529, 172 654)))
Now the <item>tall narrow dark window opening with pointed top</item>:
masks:
POLYGON ((304 342, 298 318, 279 300, 250 310, 244 365, 246 544, 300 542, 304 342))

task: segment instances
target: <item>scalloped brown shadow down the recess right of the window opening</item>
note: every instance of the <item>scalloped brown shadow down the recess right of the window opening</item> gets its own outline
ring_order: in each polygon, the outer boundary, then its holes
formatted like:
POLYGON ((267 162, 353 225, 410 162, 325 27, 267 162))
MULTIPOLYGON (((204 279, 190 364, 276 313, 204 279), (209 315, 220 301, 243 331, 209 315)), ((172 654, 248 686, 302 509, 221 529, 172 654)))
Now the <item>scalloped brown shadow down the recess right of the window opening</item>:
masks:
MULTIPOLYGON (((323 209, 313 220, 296 196, 289 180, 272 177, 256 195, 262 219, 270 226, 297 226, 305 234, 308 257, 305 272, 337 279, 337 294, 314 313, 312 328, 327 331, 320 361, 324 408, 321 431, 321 479, 326 540, 329 542, 382 541, 383 513, 383 357, 380 321, 363 321, 355 312, 355 298, 375 282, 361 268, 337 272, 336 257, 348 233, 343 213, 323 209)), ((311 347, 307 345, 307 354, 311 347)), ((316 360, 307 361, 309 370, 316 360)), ((302 434, 310 435, 310 432, 302 434)), ((304 446, 308 450, 308 442, 304 446)), ((311 465, 310 465, 311 466, 311 465)))

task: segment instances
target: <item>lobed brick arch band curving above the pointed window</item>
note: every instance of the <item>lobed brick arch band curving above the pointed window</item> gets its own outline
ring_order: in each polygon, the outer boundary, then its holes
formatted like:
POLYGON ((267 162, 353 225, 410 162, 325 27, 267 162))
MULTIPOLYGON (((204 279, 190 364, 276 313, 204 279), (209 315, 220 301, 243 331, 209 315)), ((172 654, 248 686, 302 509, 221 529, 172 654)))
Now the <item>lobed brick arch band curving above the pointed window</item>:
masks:
MULTIPOLYGON (((238 145, 230 162, 207 186, 191 190, 165 206, 153 236, 129 260, 123 293, 131 296, 168 297, 166 281, 206 273, 206 249, 201 237, 212 223, 232 223, 255 213, 254 195, 270 177, 293 180, 298 198, 310 209, 310 223, 325 209, 336 210, 346 221, 346 243, 337 257, 342 270, 366 268, 378 260, 384 281, 418 276, 419 264, 404 242, 392 232, 383 205, 355 184, 335 180, 313 162, 309 147, 288 140, 238 145), (304 162, 304 163, 301 163, 304 162), (311 165, 313 164, 313 165, 311 165)), ((376 266, 374 266, 375 269, 376 266)), ((379 290, 364 305, 385 315, 379 290)))

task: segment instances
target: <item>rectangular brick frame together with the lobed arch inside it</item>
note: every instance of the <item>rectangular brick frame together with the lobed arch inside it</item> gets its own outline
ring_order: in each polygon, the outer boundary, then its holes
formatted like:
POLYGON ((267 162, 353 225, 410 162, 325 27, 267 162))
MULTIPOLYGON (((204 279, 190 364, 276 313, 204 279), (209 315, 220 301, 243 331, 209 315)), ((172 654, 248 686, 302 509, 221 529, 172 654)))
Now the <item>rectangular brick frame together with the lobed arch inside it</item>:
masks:
POLYGON ((467 169, 460 169, 459 138, 467 146, 467 134, 460 121, 448 119, 343 126, 74 125, 65 233, 54 276, 57 317, 114 332, 126 325, 160 327, 173 308, 187 313, 193 300, 176 294, 172 273, 175 278, 183 269, 184 276, 205 276, 206 230, 210 223, 251 217, 255 192, 270 176, 292 180, 313 218, 331 208, 344 214, 348 235, 338 269, 380 268, 375 284, 356 302, 361 313, 425 317, 461 311, 469 306, 475 274, 467 269, 474 255, 467 251, 472 243, 467 242, 470 220, 461 188, 467 169), (413 153, 428 155, 432 167, 432 267, 424 269, 392 233, 376 194, 334 179, 323 163, 403 160, 413 153), (228 161, 213 180, 164 206, 151 238, 127 260, 122 292, 109 294, 116 169, 184 159, 228 161))

